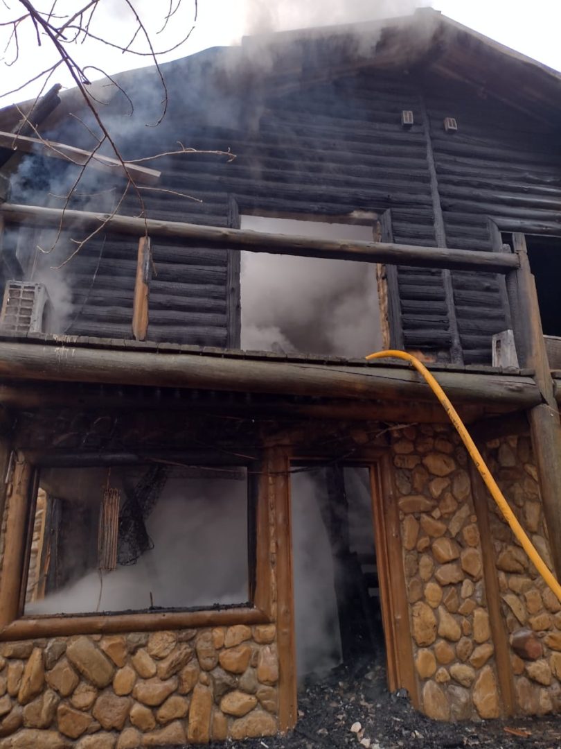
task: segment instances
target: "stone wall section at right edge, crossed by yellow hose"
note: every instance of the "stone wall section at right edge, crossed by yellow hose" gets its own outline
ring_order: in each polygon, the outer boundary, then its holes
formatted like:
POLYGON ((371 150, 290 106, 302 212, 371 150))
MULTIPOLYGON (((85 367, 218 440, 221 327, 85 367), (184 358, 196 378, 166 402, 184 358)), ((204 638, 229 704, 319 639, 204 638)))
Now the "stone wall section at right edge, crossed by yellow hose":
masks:
MULTIPOLYGON (((509 437, 487 448, 488 465, 509 505, 552 567, 530 439, 509 437)), ((561 604, 491 503, 489 517, 518 709, 526 715, 560 712, 561 604)))

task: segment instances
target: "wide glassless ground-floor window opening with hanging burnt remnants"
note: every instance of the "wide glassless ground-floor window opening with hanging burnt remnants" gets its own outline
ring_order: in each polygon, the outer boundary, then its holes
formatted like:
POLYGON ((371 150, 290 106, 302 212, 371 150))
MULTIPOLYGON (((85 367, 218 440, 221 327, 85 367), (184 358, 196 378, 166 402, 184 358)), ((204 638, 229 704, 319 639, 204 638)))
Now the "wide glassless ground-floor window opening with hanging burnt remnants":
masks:
POLYGON ((23 613, 247 605, 252 484, 246 467, 43 468, 23 613))

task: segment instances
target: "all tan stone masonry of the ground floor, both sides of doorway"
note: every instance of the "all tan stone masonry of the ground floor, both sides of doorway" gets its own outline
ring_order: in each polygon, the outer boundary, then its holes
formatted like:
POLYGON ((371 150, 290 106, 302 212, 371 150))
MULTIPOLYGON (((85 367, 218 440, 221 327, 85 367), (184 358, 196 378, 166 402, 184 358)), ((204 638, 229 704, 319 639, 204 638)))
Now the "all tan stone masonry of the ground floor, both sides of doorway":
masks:
MULTIPOLYGON (((395 428, 384 431, 387 439, 420 708, 440 720, 499 717, 468 455, 447 425, 395 428)), ((529 438, 495 440, 485 456, 549 562, 529 438)), ((268 502, 275 618, 274 491, 268 502)), ((491 500, 488 517, 518 710, 561 712, 561 605, 491 500)), ((0 643, 0 749, 134 749, 272 735, 278 671, 274 624, 0 643)))

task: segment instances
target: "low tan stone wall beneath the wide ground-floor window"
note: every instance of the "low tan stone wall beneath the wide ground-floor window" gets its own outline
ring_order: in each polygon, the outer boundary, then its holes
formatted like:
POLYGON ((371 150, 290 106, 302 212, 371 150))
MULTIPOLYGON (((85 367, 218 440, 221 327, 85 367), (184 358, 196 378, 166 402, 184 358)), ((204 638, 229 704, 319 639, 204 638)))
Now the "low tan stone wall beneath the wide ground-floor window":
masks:
POLYGON ((277 732, 275 625, 0 646, 0 749, 136 749, 277 732))

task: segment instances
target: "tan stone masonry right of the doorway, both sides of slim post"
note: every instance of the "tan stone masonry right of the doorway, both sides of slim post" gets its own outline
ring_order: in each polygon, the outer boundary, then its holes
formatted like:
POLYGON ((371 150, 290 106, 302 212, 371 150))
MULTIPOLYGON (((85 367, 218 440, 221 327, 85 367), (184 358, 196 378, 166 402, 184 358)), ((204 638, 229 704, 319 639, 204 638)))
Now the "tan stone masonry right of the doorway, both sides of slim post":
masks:
MULTIPOLYGON (((497 440, 488 448, 491 471, 551 564, 530 440, 497 440)), ((423 712, 440 720, 497 718, 503 706, 468 454, 455 431, 421 425, 394 432, 393 462, 423 712)), ((557 711, 561 606, 492 500, 489 515, 518 708, 529 715, 557 711)))

